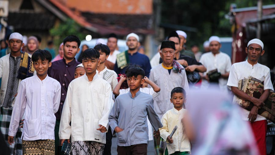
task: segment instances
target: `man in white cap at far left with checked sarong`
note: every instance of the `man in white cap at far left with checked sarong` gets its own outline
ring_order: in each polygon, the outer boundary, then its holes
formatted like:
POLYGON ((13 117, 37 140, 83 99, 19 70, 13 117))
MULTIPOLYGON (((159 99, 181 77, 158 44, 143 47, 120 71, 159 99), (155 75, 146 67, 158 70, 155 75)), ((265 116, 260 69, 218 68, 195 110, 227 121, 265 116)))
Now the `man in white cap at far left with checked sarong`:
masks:
POLYGON ((33 76, 34 68, 31 56, 28 53, 21 52, 24 43, 23 36, 20 33, 12 33, 9 36, 8 45, 11 53, 0 58, 0 78, 2 78, 0 88, 2 92, 0 95, 0 129, 9 147, 9 152, 11 154, 22 154, 22 140, 20 138, 22 128, 18 128, 12 145, 8 144, 7 138, 13 105, 20 87, 20 82, 27 77, 33 76), (28 68, 31 69, 29 70, 28 68))

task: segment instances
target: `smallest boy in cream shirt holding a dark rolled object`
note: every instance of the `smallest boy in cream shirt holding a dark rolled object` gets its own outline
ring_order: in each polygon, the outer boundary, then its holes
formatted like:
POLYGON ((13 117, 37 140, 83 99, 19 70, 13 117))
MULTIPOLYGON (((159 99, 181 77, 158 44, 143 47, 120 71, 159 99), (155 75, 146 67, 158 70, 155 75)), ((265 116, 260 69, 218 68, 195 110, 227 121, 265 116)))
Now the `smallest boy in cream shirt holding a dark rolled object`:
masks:
POLYGON ((174 108, 168 110, 162 117, 161 123, 163 125, 160 128, 160 136, 166 139, 167 148, 165 150, 165 155, 189 155, 191 151, 191 145, 189 139, 184 134, 184 127, 182 124, 182 118, 184 113, 187 112, 183 109, 183 105, 186 101, 186 93, 182 87, 175 87, 171 91, 171 103, 173 103, 174 108), (178 129, 175 131, 173 137, 170 137, 171 132, 175 126, 178 129))

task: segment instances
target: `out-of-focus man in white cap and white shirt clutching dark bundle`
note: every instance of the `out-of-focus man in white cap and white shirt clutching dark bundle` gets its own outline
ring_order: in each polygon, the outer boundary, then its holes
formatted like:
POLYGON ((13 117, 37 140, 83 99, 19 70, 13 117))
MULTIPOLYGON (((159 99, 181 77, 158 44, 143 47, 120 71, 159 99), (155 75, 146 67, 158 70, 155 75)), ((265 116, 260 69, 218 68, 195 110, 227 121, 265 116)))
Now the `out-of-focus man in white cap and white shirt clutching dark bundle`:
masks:
POLYGON ((217 69, 220 76, 216 77, 217 80, 213 83, 218 83, 220 89, 227 92, 226 83, 232 63, 229 55, 220 51, 221 47, 220 38, 218 36, 211 36, 209 38, 209 48, 211 52, 204 53, 200 57, 200 63, 207 69, 202 76, 201 88, 203 89, 207 89, 210 86, 210 82, 213 82, 209 79, 209 72, 217 69))

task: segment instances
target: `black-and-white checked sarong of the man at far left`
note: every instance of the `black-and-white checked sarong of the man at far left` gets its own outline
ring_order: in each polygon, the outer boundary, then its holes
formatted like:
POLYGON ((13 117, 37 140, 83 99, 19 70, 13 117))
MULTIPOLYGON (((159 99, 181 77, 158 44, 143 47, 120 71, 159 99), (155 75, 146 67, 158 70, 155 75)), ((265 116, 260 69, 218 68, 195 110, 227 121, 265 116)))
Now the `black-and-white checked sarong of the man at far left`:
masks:
POLYGON ((1 128, 1 132, 3 134, 3 137, 5 138, 6 144, 9 147, 10 154, 11 155, 13 155, 13 154, 21 155, 22 154, 21 135, 22 135, 23 129, 20 127, 18 128, 16 136, 13 138, 14 143, 12 145, 9 145, 8 141, 7 141, 8 134, 9 134, 9 124, 10 124, 12 112, 13 112, 13 107, 8 107, 8 108, 1 107, 0 128, 1 128))

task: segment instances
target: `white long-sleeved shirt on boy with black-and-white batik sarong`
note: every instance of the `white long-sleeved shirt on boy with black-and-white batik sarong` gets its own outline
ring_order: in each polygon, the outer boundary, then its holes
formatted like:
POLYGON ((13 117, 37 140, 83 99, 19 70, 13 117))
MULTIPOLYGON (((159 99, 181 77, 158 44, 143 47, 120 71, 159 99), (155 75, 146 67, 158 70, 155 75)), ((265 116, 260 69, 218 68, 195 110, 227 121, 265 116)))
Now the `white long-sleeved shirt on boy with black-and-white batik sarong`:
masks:
POLYGON ((72 142, 106 143, 106 133, 97 129, 100 124, 108 130, 108 116, 113 104, 111 85, 97 74, 92 81, 86 74, 72 80, 61 115, 59 138, 69 139, 71 136, 72 142))

